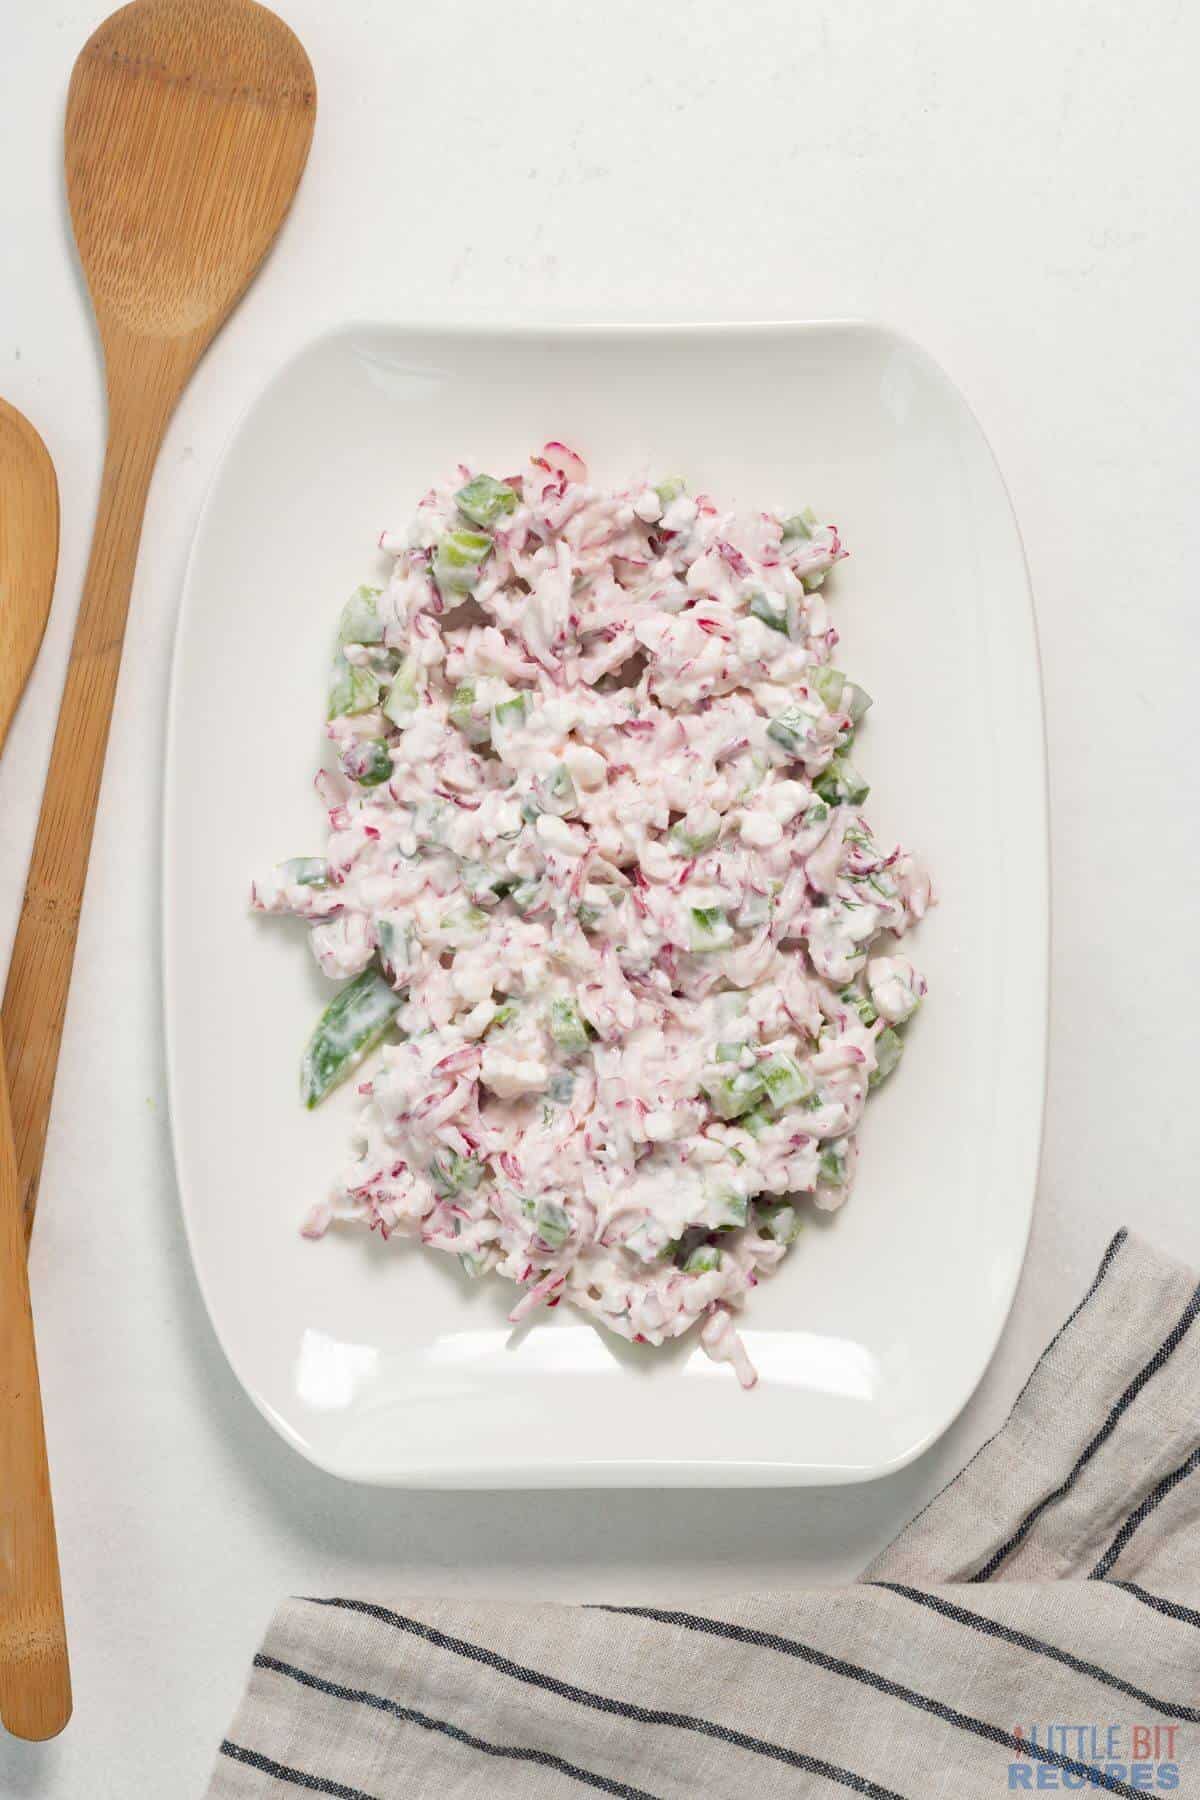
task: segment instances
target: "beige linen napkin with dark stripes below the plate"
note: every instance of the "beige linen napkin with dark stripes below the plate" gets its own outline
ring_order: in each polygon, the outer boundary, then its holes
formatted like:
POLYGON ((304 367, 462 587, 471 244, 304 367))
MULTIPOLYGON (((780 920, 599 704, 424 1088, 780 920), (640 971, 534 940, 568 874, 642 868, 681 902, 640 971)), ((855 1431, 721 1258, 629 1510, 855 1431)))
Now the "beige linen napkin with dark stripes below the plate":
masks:
POLYGON ((1004 1427, 844 1589, 288 1600, 209 1800, 1200 1796, 1195 1271, 1121 1231, 1004 1427))

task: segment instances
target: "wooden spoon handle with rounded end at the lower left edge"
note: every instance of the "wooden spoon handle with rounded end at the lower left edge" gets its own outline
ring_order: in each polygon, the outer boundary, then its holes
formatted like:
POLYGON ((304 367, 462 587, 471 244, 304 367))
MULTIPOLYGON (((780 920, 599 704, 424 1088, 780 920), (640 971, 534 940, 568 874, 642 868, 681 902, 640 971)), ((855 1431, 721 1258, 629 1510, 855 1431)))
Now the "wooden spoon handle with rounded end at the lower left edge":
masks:
POLYGON ((0 1719, 54 1737, 70 1719, 70 1665, 45 1460, 25 1229, 0 1048, 0 1719))

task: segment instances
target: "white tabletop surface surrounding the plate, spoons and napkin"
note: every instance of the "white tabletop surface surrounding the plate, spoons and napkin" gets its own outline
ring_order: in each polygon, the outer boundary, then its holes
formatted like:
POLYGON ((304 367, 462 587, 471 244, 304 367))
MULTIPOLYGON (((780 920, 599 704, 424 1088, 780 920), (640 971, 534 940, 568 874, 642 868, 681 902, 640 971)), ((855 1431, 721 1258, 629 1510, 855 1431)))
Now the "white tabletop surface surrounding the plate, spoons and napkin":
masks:
MULTIPOLYGON (((151 493, 34 1247, 76 1717, 0 1795, 196 1796, 288 1589, 660 1598, 851 1575, 991 1431, 1121 1222, 1200 1258, 1200 14, 1184 0, 284 0, 320 88, 270 265, 151 493), (837 1492, 414 1496, 304 1465, 209 1332, 162 1082, 164 693, 201 495, 246 400, 354 315, 869 315, 990 434, 1045 655, 1054 1017, 1033 1246, 948 1436, 837 1492)), ((103 452, 59 139, 88 0, 0 0, 0 392, 63 553, 0 770, 16 922, 103 452)), ((264 522, 264 529, 270 522, 264 522)), ((954 745, 946 745, 954 754, 954 745)), ((1020 792, 1013 805, 1022 805, 1020 792)))

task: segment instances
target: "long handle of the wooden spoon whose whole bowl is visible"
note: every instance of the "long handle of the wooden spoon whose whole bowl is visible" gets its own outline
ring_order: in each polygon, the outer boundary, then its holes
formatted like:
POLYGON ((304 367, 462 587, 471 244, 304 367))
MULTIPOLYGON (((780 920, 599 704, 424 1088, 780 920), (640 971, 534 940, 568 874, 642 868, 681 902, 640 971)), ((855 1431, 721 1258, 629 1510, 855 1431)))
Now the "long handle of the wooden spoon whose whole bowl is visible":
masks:
MULTIPOLYGON (((189 355, 187 365, 191 360, 189 355)), ((130 380, 115 389, 110 347, 110 428, 101 502, 4 994, 25 1238, 38 1204, 142 515, 162 432, 182 385, 178 362, 176 355, 139 367, 130 358, 130 380), (142 380, 133 380, 135 374, 142 380)))

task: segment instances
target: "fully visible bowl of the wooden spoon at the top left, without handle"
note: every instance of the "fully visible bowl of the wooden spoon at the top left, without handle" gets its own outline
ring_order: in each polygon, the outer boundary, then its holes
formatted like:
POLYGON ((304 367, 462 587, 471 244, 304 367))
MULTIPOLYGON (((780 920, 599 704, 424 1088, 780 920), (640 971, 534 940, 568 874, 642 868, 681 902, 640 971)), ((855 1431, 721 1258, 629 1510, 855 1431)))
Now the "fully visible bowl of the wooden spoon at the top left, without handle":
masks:
POLYGON ((302 45, 250 0, 135 0, 88 38, 67 191, 106 349, 200 355, 291 205, 315 104, 302 45))

